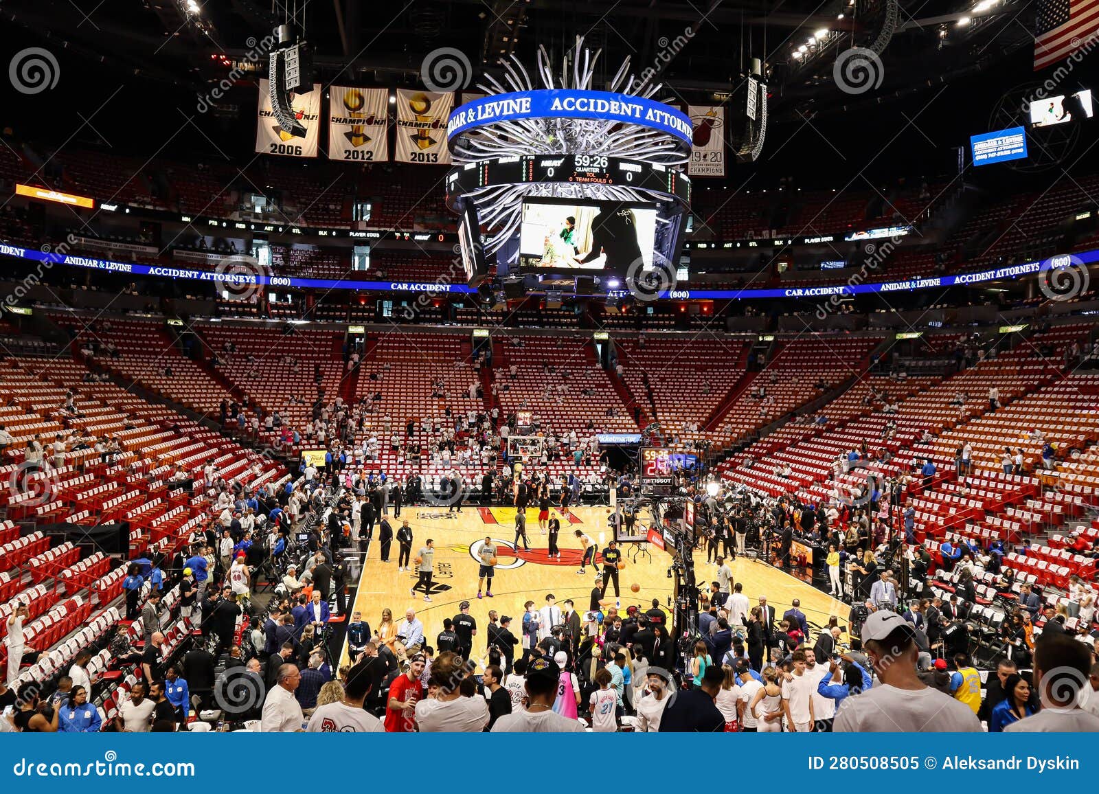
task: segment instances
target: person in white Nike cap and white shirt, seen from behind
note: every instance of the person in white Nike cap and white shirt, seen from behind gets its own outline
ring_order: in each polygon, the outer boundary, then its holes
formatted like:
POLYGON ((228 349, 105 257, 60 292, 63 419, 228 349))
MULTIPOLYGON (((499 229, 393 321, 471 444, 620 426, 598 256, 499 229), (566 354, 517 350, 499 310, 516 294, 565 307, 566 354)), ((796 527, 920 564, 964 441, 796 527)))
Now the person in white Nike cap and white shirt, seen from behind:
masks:
POLYGON ((920 680, 915 672, 915 633, 900 615, 880 609, 867 617, 862 642, 880 683, 840 704, 834 732, 981 730, 977 715, 968 706, 920 680))

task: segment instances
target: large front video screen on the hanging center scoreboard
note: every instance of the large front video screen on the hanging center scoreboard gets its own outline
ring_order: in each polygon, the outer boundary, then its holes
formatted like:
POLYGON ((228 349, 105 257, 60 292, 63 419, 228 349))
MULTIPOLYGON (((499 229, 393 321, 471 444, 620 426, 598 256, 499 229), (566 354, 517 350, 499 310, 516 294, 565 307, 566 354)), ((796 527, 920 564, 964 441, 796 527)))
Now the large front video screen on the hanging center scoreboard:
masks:
POLYGON ((656 208, 620 201, 523 201, 519 265, 528 271, 625 273, 652 267, 656 208))

